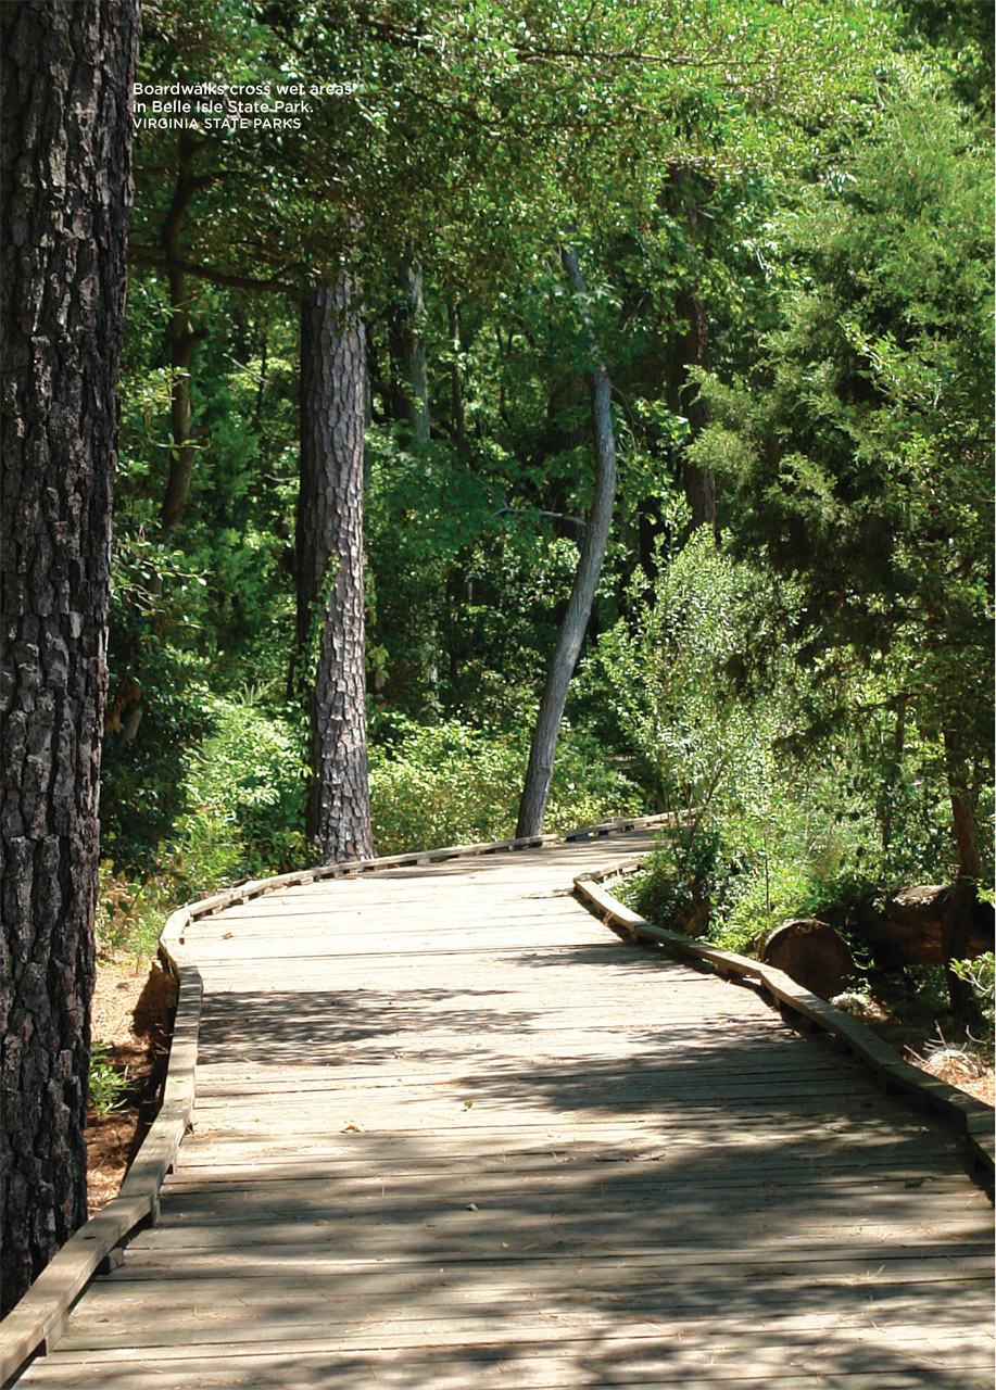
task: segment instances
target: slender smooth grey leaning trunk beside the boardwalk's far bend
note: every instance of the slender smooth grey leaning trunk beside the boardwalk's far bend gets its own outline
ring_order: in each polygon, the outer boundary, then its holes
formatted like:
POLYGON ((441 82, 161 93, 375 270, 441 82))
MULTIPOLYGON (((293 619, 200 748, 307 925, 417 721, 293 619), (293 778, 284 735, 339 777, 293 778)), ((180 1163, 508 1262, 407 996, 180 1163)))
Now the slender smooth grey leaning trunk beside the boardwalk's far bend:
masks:
MULTIPOLYGON (((584 295, 584 279, 577 264, 573 246, 563 249, 563 267, 576 295, 584 295)), ((594 348, 594 342, 593 342, 594 348)), ((547 812, 549 781, 554 774, 554 753, 561 731, 563 708, 568 702, 568 687, 575 673, 581 642, 591 616, 598 574, 605 556, 605 546, 612 524, 612 503, 616 489, 616 448, 612 432, 609 404, 612 382, 604 363, 598 361, 591 373, 591 430, 595 452, 595 495, 591 516, 584 530, 581 553, 577 562, 575 584, 568 600, 568 612, 561 626, 554 656, 547 673, 547 684, 540 701, 540 713, 533 731, 529 752, 529 767, 519 802, 519 823, 516 835, 527 838, 543 834, 543 817, 547 812)))

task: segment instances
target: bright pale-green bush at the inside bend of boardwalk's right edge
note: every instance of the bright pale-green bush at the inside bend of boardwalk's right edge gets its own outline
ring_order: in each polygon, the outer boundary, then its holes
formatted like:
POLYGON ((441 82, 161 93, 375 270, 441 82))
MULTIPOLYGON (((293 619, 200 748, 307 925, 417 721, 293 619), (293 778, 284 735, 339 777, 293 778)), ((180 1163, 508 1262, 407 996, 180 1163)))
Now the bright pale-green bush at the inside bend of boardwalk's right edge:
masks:
MULTIPOLYGON (((793 587, 765 584, 700 530, 670 555, 650 606, 634 603, 602 635, 590 677, 604 682, 634 767, 679 815, 626 891, 645 916, 739 951, 789 916, 832 909, 840 920, 904 870, 945 872, 910 813, 919 802, 893 795, 882 834, 867 727, 830 726, 800 745, 797 720, 818 691, 792 664, 797 603, 793 587), (753 662, 765 646, 760 681, 753 662)), ((872 677, 850 688, 875 708, 872 677)), ((915 781, 908 751, 901 766, 915 781)), ((936 816, 928 826, 936 835, 936 816)))

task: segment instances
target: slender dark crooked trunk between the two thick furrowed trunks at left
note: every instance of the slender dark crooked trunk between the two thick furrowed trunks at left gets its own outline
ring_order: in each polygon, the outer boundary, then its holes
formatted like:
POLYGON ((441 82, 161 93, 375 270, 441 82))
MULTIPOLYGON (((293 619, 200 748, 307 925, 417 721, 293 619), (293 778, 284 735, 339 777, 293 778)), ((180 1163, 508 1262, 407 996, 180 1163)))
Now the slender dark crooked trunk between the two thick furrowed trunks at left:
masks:
POLYGON ((196 345, 207 338, 206 328, 195 329, 191 322, 189 282, 181 264, 179 245, 179 229, 191 199, 198 189, 206 188, 211 182, 210 177, 196 178, 193 174, 193 158, 198 149, 199 145, 191 132, 182 131, 177 143, 179 161, 177 183, 160 238, 170 281, 170 367, 172 370, 170 400, 172 449, 170 450, 170 477, 163 496, 161 524, 164 531, 175 531, 186 512, 196 453, 193 413, 191 410, 191 361, 196 345))

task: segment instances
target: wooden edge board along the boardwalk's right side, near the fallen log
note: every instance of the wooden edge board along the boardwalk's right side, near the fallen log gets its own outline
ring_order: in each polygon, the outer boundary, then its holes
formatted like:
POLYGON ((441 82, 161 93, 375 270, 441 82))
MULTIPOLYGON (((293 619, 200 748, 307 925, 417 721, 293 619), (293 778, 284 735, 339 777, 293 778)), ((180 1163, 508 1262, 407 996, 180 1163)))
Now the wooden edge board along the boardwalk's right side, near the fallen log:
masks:
POLYGON ((982 1175, 986 1184, 992 1183, 996 1144, 993 1143, 993 1111, 989 1105, 977 1101, 954 1086, 949 1086, 947 1081, 942 1081, 936 1076, 929 1076, 911 1062, 906 1062, 869 1027, 858 1023, 843 1009, 828 1004, 826 999, 810 994, 783 970, 734 951, 705 945, 694 937, 686 937, 677 931, 665 931, 625 906, 604 884, 611 878, 618 878, 620 873, 638 869, 641 863, 643 860, 633 859, 613 865, 611 869, 579 874, 575 878, 575 891, 607 927, 623 938, 637 944, 657 945, 679 960, 704 962, 725 979, 747 980, 776 1001, 786 1022, 798 1026, 800 1020, 804 1020, 803 1027, 811 1029, 815 1024, 817 1029, 839 1038, 872 1069, 886 1090, 907 1093, 953 1125, 965 1137, 968 1155, 975 1170, 982 1175))

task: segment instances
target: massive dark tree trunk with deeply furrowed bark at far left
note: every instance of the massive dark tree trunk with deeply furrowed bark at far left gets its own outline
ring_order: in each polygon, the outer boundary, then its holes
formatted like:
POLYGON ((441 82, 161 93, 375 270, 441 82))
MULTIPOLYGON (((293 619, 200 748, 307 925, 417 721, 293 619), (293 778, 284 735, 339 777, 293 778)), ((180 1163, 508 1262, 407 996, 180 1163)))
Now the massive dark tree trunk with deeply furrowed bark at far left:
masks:
POLYGON ((86 1220, 138 0, 0 6, 3 1308, 86 1220))

